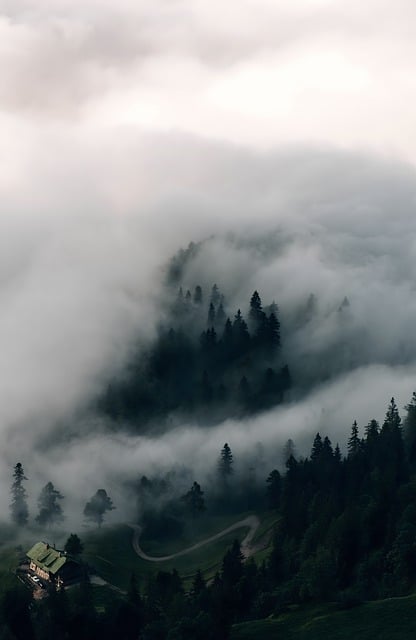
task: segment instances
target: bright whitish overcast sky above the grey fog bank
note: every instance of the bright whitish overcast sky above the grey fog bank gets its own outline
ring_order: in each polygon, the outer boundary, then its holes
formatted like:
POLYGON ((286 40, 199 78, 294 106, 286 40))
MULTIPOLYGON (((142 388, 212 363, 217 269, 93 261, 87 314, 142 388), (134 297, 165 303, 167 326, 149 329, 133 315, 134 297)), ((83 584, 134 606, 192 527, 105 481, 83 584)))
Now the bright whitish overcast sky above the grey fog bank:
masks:
POLYGON ((415 161, 415 13, 411 0, 3 0, 2 133, 132 126, 415 161))

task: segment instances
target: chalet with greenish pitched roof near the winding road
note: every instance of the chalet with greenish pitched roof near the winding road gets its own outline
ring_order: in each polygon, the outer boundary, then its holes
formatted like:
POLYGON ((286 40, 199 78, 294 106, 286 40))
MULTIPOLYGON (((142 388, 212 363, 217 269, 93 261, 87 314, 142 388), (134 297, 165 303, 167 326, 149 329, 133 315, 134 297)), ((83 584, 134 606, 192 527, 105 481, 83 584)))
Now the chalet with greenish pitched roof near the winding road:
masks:
POLYGON ((30 561, 29 569, 58 588, 79 582, 84 574, 79 562, 46 542, 37 542, 26 555, 30 561))

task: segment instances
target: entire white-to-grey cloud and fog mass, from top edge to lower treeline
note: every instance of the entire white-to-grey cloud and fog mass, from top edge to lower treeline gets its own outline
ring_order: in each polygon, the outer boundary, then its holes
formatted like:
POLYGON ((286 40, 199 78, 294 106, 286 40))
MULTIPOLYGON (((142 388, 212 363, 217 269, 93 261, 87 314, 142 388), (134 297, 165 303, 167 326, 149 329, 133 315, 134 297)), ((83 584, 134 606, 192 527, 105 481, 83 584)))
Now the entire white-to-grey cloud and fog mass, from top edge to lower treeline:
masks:
MULTIPOLYGON (((68 527, 103 486, 262 442, 345 446, 415 388, 415 9, 407 0, 3 2, 0 507, 24 465, 68 527), (58 6, 59 4, 59 6, 58 6), (377 13, 377 27, 374 14, 377 13), (290 401, 132 437, 89 407, 155 335, 170 258, 230 308, 275 300, 290 401), (314 295, 313 313, 307 301, 314 295), (348 305, 342 306, 344 298, 348 305)), ((403 413, 403 411, 402 411, 403 413)))

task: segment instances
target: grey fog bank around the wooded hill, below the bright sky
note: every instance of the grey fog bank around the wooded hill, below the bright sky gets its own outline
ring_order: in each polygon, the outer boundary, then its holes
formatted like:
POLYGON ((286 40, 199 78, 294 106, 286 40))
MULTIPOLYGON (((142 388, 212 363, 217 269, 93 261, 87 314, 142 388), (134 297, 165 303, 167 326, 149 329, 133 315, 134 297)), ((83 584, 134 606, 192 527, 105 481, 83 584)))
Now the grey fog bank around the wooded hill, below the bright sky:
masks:
MULTIPOLYGON (((329 150, 237 153, 184 137, 181 167, 161 153, 169 138, 153 142, 147 175, 167 181, 142 205, 137 192, 136 211, 112 215, 108 203, 100 211, 92 193, 83 216, 54 216, 63 194, 51 184, 43 216, 26 217, 19 203, 20 216, 1 220, 1 478, 7 486, 19 458, 32 499, 52 479, 73 514, 89 497, 86 487, 105 485, 119 504, 111 517, 123 519, 125 481, 183 464, 205 477, 225 441, 236 459, 262 442, 270 467, 288 437, 301 453, 317 430, 343 446, 353 419, 382 420, 390 397, 403 407, 415 386, 409 166, 329 150), (184 170, 191 165, 192 175, 184 170), (243 310, 255 288, 264 303, 276 300, 283 357, 303 391, 287 406, 207 431, 176 424, 157 439, 103 435, 82 407, 133 344, 151 339, 167 261, 200 239, 184 286, 218 282, 230 307, 243 310), (310 293, 316 306, 306 321, 310 293), (345 296, 350 304, 340 311, 345 296)), ((109 164, 107 188, 117 182, 109 164)))

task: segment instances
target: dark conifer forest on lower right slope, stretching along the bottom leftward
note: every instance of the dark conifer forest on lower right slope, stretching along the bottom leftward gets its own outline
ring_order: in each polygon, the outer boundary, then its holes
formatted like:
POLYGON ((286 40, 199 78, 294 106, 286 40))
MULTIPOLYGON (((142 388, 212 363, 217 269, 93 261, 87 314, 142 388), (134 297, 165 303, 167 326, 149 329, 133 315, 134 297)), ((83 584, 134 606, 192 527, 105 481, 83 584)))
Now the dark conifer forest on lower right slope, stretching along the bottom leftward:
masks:
MULTIPOLYGON (((61 604, 53 596, 39 605, 36 616, 25 609, 33 633, 26 629, 25 637, 48 637, 39 629, 53 628, 57 638, 224 639, 232 624, 280 615, 294 604, 335 601, 346 608, 409 593, 416 584, 416 393, 403 422, 394 398, 381 424, 371 419, 360 429, 353 421, 345 454, 317 433, 308 456, 297 456, 292 441, 284 455, 284 470, 276 465, 256 489, 257 505, 267 503, 276 515, 263 561, 245 559, 235 540, 209 583, 198 571, 185 590, 177 571, 159 571, 139 591, 132 576, 128 595, 99 612, 86 581, 82 602, 65 603, 64 594, 57 596, 61 604), (52 606, 62 615, 52 615, 52 606)), ((234 476, 226 443, 216 481, 229 508, 240 489, 234 476)), ((143 476, 142 499, 147 493, 154 502, 166 483, 143 476)), ((191 483, 179 500, 190 518, 212 508, 205 500, 212 490, 191 483)))

